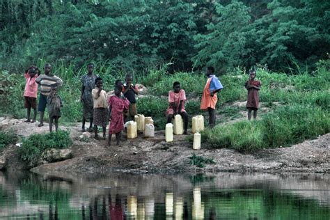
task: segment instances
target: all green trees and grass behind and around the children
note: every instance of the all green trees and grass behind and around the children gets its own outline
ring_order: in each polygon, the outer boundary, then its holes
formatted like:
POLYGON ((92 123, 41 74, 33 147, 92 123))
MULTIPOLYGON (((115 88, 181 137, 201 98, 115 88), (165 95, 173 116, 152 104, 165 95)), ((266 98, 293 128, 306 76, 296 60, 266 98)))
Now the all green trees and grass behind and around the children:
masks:
POLYGON ((60 123, 80 122, 79 79, 93 61, 106 91, 127 73, 147 86, 138 111, 164 129, 174 81, 186 91, 189 116, 207 116, 199 109, 201 70, 213 65, 224 86, 221 125, 203 139, 214 147, 251 151, 329 132, 329 1, 7 0, 0 6, 1 113, 25 116, 23 70, 49 62, 64 81, 60 123), (250 68, 262 82, 267 113, 226 125, 244 110, 229 106, 246 100, 250 68))

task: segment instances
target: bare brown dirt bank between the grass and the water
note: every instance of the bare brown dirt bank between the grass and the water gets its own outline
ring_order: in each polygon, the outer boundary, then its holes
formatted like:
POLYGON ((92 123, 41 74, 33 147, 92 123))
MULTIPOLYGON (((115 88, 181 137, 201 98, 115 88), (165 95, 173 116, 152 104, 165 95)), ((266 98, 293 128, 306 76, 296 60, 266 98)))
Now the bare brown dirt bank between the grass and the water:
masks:
MULTIPOLYGON (((32 171, 67 171, 72 173, 107 173, 123 171, 132 173, 157 172, 304 172, 330 173, 330 133, 318 139, 304 141, 290 148, 259 150, 253 154, 242 154, 235 150, 213 149, 202 143, 202 149, 194 151, 187 136, 175 136, 173 143, 164 141, 164 131, 156 132, 155 138, 139 138, 123 141, 120 146, 106 147, 106 141, 90 139, 79 141, 80 124, 62 126, 70 129, 74 140, 72 159, 62 162, 42 164, 32 171), (198 168, 189 164, 189 157, 195 153, 213 158, 215 164, 206 164, 198 168)), ((37 124, 24 123, 24 120, 0 118, 0 129, 13 129, 20 136, 48 131, 48 125, 37 127, 37 124)), ((17 146, 10 146, 0 154, 7 158, 7 168, 24 168, 15 155, 17 146)))

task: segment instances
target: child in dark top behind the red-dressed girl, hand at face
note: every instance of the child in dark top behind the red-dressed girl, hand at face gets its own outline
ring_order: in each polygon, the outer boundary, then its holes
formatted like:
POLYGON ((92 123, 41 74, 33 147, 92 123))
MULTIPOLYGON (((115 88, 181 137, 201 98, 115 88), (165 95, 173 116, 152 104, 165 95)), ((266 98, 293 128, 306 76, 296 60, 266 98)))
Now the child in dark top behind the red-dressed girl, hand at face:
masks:
POLYGON ((129 101, 129 108, 127 113, 125 113, 125 121, 127 120, 127 117, 130 117, 131 120, 134 120, 134 116, 137 115, 137 109, 136 109, 136 98, 135 95, 139 94, 139 89, 136 88, 132 84, 133 82, 133 76, 131 74, 127 74, 125 77, 126 84, 124 85, 124 96, 129 101))

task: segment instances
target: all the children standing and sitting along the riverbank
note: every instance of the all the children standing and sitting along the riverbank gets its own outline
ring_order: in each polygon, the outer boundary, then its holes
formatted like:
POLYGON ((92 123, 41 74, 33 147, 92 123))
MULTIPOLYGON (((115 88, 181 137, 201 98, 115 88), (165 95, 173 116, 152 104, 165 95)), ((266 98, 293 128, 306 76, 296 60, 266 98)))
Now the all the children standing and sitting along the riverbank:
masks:
MULTIPOLYGON (((111 145, 112 134, 116 135, 117 145, 120 142, 120 134, 124 129, 124 123, 127 120, 134 120, 137 114, 136 95, 139 94, 139 89, 132 84, 133 77, 127 74, 125 84, 121 79, 116 80, 114 85, 114 95, 107 98, 106 91, 103 90, 103 81, 97 74, 93 74, 94 65, 87 65, 88 72, 81 77, 81 97, 83 103, 83 118, 81 130, 85 132, 86 119, 89 118, 90 126, 88 131, 94 129, 95 139, 99 139, 97 134, 97 126, 102 127, 103 139, 106 139, 106 127, 109 125, 108 145, 111 145), (123 95, 122 95, 123 93, 123 95), (94 127, 93 127, 94 123, 94 127)), ((36 121, 36 100, 38 93, 38 85, 40 86, 40 96, 38 111, 40 111, 40 124, 43 126, 43 117, 45 107, 49 113, 49 131, 52 132, 52 124, 55 122, 56 132, 58 130, 58 118, 61 117, 61 98, 57 94, 57 87, 62 86, 63 81, 54 76, 51 72, 52 67, 47 63, 45 65, 45 74, 40 74, 40 70, 31 66, 26 70, 24 77, 26 78, 26 86, 24 89, 24 107, 27 109, 26 122, 34 123, 36 121), (33 119, 31 120, 31 109, 33 109, 33 119)), ((207 82, 203 90, 201 100, 201 109, 207 110, 209 113, 209 125, 214 127, 216 122, 216 104, 217 93, 223 88, 221 82, 214 74, 213 67, 206 68, 207 82)), ((256 119, 260 90, 260 81, 255 80, 256 71, 249 72, 249 80, 245 83, 245 88, 248 90, 246 108, 248 109, 248 118, 251 120, 251 112, 253 118, 256 119)), ((167 123, 171 123, 173 117, 177 114, 182 116, 184 121, 184 134, 187 134, 189 116, 184 108, 184 102, 187 100, 184 90, 181 88, 180 82, 173 83, 173 91, 168 92, 168 108, 166 110, 167 123)))

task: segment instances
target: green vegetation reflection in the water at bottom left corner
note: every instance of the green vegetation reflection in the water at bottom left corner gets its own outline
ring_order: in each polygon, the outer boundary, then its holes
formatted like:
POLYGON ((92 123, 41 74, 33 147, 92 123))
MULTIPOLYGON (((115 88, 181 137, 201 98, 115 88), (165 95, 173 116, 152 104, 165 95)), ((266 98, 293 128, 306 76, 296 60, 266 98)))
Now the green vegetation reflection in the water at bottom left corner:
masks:
MULTIPOLYGON (((30 212, 17 213, 24 217, 43 217, 45 219, 81 219, 81 211, 70 206, 70 182, 64 180, 42 180, 37 175, 19 176, 17 182, 13 177, 6 177, 6 184, 17 184, 15 191, 0 188, 1 207, 20 210, 30 207, 30 212), (4 203, 2 203, 3 201, 4 203), (34 211, 33 211, 34 210, 34 211)), ((81 205, 81 204, 79 204, 81 205)))

